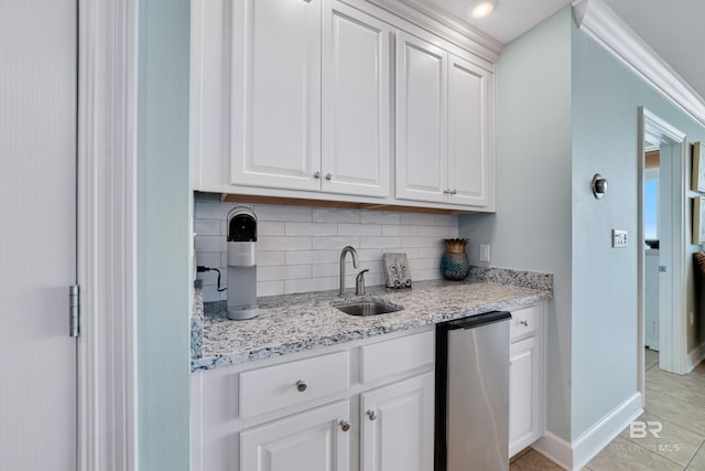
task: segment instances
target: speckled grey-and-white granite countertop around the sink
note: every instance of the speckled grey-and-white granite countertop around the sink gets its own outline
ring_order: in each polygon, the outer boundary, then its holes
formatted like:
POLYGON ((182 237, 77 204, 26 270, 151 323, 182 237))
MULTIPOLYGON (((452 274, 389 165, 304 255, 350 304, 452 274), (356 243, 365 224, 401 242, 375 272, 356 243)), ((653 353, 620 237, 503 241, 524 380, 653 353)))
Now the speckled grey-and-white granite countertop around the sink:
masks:
POLYGON ((247 321, 228 320, 224 301, 206 303, 202 352, 192 358, 192 371, 285 355, 488 311, 513 310, 552 297, 550 274, 527 272, 529 277, 520 277, 529 282, 518 285, 530 288, 516 286, 516 274, 510 270, 495 277, 475 274, 470 281, 422 281, 401 290, 375 287, 368 289, 368 296, 404 309, 370 317, 349 315, 334 308, 332 303, 341 300, 337 291, 260 298, 258 317, 247 321))

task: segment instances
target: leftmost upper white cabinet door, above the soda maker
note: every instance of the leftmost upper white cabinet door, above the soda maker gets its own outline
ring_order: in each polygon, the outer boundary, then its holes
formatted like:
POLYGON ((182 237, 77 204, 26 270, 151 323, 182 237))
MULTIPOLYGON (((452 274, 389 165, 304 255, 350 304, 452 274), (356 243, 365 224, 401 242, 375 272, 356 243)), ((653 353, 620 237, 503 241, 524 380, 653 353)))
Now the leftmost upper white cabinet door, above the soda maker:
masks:
POLYGON ((322 0, 232 2, 230 183, 318 190, 322 0))

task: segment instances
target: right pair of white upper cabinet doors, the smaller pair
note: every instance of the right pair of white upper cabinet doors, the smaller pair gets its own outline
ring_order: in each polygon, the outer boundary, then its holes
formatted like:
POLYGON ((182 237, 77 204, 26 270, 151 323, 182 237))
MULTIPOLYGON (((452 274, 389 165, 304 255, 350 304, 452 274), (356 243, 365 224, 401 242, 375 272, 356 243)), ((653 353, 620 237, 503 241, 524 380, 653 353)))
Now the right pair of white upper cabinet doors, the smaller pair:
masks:
POLYGON ((397 197, 494 205, 491 74, 397 38, 397 197))

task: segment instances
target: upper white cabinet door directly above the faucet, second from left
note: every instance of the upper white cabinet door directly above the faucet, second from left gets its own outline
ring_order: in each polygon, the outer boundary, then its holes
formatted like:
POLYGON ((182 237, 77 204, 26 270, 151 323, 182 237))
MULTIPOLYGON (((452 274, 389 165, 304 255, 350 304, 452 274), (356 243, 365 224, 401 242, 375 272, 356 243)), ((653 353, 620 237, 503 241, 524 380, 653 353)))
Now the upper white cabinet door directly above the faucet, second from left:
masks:
POLYGON ((390 29, 339 1, 323 31, 322 189, 389 196, 390 29))

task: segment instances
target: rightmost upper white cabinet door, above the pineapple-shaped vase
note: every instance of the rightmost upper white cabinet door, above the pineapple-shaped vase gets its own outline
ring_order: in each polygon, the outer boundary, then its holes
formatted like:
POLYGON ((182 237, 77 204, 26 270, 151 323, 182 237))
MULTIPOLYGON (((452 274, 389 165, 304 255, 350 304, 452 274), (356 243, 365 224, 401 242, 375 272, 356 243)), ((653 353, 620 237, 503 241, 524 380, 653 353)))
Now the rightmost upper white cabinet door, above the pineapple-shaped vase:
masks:
POLYGON ((491 74, 448 56, 448 203, 486 206, 494 193, 491 74))

